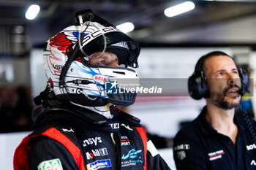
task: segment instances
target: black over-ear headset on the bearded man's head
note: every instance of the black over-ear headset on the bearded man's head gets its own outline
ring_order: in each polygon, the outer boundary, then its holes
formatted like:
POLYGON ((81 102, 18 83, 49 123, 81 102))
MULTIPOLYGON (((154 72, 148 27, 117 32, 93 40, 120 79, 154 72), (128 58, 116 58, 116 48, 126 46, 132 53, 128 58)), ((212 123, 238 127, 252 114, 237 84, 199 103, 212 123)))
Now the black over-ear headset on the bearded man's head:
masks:
MULTIPOLYGON (((191 96, 196 100, 209 97, 208 84, 206 82, 206 77, 203 74, 203 63, 206 60, 206 58, 209 58, 212 56, 219 56, 219 55, 225 55, 230 57, 230 55, 227 55, 226 53, 223 53, 221 51, 214 51, 206 55, 203 55, 197 61, 197 64, 195 65, 195 71, 192 74, 192 76, 189 77, 189 80, 188 80, 189 96, 191 96)), ((235 61, 234 63, 236 64, 235 61)), ((238 67, 237 64, 236 64, 236 67, 238 69, 239 77, 241 80, 241 90, 239 91, 239 93, 241 94, 241 96, 243 96, 246 93, 246 91, 249 91, 249 80, 244 69, 238 67)))

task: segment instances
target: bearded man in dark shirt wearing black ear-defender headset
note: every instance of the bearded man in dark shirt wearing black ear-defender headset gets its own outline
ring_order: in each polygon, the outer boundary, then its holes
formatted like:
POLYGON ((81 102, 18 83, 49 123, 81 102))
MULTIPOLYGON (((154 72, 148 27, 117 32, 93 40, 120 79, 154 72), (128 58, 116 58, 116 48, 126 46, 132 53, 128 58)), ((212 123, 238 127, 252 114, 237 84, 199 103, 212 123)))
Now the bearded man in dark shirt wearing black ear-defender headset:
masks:
POLYGON ((244 71, 229 55, 214 51, 197 61, 188 85, 192 98, 206 98, 206 107, 176 134, 177 169, 256 169, 255 121, 235 115, 248 88, 244 71))

